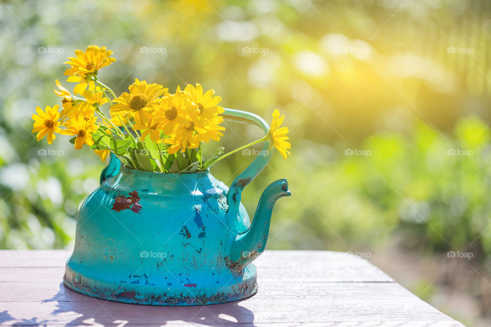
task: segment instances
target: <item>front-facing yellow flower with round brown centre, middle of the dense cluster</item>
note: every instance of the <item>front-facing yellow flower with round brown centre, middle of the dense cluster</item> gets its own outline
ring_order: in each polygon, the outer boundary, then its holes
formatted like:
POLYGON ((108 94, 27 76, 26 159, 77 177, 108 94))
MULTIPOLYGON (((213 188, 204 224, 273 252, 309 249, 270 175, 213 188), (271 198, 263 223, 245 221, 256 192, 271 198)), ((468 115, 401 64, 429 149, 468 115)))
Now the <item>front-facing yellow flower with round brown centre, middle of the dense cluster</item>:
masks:
POLYGON ((175 94, 166 94, 159 100, 153 112, 153 120, 165 135, 170 135, 186 121, 190 112, 196 110, 197 106, 189 101, 188 94, 177 87, 175 94))

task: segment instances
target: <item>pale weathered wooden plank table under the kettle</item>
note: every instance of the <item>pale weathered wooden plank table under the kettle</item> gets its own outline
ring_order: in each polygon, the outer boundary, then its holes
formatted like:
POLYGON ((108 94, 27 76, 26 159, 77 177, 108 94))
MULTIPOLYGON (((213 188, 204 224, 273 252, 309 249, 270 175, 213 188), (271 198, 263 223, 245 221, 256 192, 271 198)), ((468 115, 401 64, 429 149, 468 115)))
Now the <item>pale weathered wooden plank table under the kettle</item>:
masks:
POLYGON ((265 251, 259 291, 200 307, 128 305, 62 283, 70 251, 0 250, 0 324, 19 326, 462 326, 368 261, 331 251, 265 251))

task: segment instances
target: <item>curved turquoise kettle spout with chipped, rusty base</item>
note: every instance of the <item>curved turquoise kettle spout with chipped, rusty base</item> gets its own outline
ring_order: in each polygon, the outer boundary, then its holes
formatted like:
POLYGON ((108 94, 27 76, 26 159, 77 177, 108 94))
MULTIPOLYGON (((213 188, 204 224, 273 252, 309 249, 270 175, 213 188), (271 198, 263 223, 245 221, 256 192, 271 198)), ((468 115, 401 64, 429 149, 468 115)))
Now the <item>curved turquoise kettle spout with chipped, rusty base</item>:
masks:
POLYGON ((279 198, 291 195, 286 179, 279 179, 267 186, 259 199, 251 226, 240 232, 232 244, 230 260, 235 265, 243 267, 264 251, 273 206, 279 198))

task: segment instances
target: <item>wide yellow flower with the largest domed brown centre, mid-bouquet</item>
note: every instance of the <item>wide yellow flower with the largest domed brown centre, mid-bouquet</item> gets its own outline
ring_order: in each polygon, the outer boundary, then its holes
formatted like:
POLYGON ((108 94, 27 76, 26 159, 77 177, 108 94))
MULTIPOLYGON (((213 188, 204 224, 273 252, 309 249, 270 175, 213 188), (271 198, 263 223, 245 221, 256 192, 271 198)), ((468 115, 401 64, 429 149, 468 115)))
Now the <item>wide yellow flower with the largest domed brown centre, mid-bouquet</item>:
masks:
POLYGON ((153 111, 153 107, 156 104, 155 99, 163 95, 168 91, 168 88, 164 88, 159 84, 147 84, 146 81, 139 81, 135 79, 135 83, 129 87, 129 93, 124 92, 120 97, 114 99, 116 104, 110 108, 111 116, 121 115, 131 117, 135 116, 135 113, 140 111, 153 111))

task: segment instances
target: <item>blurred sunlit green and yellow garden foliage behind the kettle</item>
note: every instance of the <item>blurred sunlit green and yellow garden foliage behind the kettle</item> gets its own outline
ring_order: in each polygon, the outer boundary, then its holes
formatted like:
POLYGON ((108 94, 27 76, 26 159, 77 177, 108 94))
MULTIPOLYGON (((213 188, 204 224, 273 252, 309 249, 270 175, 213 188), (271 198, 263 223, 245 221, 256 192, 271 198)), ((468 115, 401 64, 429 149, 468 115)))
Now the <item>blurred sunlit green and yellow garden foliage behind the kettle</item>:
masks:
MULTIPOLYGON (((64 58, 97 44, 115 52, 118 61, 99 78, 118 94, 135 78, 170 90, 199 82, 223 106, 266 120, 275 108, 285 114, 292 157, 277 155, 243 196, 252 215, 265 186, 288 179, 293 196, 275 207, 270 248, 345 250, 400 236, 410 247, 471 248, 484 258, 491 252, 488 7, 3 2, 0 248, 72 246, 77 207, 104 165, 61 135, 51 147, 36 143, 30 115, 59 103, 55 78, 74 86, 62 75, 64 58)), ((260 135, 226 127, 221 144, 229 150, 260 135)), ((230 184, 252 159, 227 158, 212 173, 230 184)))

